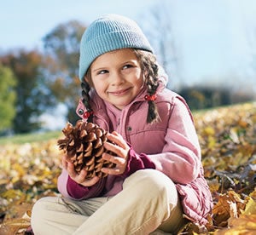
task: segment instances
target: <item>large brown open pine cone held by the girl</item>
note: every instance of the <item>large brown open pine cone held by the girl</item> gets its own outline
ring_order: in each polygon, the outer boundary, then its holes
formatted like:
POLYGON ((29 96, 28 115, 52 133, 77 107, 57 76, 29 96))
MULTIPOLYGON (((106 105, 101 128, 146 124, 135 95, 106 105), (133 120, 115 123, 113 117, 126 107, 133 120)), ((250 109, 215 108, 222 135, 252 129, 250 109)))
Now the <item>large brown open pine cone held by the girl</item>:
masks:
POLYGON ((115 166, 114 163, 102 159, 102 153, 108 152, 103 146, 108 141, 106 130, 95 123, 79 120, 75 126, 67 123, 62 132, 66 137, 57 142, 60 150, 64 150, 78 173, 81 169, 87 170, 87 179, 96 175, 105 177, 107 174, 101 171, 102 167, 115 166))

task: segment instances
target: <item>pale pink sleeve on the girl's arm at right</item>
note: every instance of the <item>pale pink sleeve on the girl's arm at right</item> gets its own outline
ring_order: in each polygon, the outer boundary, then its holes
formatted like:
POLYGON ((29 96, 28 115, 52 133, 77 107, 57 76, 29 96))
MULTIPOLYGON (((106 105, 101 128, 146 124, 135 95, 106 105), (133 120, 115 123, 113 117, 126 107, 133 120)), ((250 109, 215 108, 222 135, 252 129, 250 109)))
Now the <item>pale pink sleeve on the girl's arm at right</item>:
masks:
POLYGON ((192 114, 182 98, 174 98, 165 140, 161 153, 148 155, 155 169, 179 184, 194 181, 200 174, 201 148, 192 114))

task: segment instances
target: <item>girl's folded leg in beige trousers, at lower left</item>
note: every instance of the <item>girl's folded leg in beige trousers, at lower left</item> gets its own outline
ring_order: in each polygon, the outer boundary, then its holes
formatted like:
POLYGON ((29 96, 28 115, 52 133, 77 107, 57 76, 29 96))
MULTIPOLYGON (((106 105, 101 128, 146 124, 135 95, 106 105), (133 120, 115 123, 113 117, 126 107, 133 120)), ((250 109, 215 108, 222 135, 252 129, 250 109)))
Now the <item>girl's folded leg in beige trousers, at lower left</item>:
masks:
POLYGON ((36 235, 72 234, 108 198, 73 201, 67 198, 41 198, 32 208, 32 230, 36 235))

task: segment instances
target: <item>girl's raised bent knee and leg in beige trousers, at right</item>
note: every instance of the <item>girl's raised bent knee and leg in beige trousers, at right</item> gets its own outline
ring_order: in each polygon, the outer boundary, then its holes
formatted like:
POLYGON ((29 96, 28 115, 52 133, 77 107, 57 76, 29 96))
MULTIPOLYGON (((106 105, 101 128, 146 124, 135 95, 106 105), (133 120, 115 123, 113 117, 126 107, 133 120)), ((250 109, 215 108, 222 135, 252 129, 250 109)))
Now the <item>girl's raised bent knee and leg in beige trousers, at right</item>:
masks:
POLYGON ((160 171, 143 169, 128 177, 123 190, 97 209, 73 234, 144 235, 160 225, 166 232, 176 232, 182 224, 174 183, 160 171))

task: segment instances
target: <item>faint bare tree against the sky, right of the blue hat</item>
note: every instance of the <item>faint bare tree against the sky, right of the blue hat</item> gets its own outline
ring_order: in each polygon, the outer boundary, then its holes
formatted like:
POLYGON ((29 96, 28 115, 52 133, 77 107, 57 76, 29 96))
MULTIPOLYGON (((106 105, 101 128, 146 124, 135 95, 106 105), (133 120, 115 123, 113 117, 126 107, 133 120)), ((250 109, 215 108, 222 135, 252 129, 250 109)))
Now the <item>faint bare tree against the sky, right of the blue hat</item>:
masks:
POLYGON ((181 74, 182 58, 180 51, 178 51, 172 27, 172 6, 173 2, 171 1, 155 3, 143 15, 142 28, 154 47, 160 65, 165 68, 168 75, 172 74, 172 77, 176 77, 172 80, 172 83, 168 84, 168 87, 172 85, 172 88, 175 87, 177 89, 183 85, 181 74))

